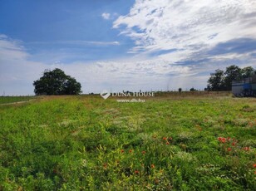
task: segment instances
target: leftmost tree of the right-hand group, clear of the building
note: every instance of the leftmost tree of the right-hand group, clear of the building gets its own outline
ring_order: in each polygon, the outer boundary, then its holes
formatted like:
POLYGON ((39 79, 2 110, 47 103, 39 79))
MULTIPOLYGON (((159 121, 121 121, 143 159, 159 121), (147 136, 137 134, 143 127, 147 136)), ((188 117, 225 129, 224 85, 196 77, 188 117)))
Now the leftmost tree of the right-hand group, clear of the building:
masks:
POLYGON ((224 71, 217 69, 214 73, 211 73, 208 87, 210 91, 224 91, 224 71))

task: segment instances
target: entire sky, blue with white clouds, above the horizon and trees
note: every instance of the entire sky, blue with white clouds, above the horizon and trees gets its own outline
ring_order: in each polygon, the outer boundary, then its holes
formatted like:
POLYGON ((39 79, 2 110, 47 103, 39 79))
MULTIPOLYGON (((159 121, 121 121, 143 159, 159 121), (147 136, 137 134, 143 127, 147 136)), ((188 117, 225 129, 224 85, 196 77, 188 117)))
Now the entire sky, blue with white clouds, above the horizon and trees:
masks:
POLYGON ((33 94, 61 68, 82 91, 204 89, 231 64, 256 68, 253 0, 0 0, 0 94, 33 94))

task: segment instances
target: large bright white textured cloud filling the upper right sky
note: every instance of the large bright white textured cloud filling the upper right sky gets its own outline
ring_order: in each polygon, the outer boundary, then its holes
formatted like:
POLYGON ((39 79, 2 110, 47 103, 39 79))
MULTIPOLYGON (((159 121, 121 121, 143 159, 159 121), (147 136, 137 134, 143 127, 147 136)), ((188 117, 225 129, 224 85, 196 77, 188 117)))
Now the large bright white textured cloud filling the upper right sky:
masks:
POLYGON ((136 0, 113 27, 135 41, 133 52, 193 53, 234 38, 255 38, 255 7, 254 0, 136 0))

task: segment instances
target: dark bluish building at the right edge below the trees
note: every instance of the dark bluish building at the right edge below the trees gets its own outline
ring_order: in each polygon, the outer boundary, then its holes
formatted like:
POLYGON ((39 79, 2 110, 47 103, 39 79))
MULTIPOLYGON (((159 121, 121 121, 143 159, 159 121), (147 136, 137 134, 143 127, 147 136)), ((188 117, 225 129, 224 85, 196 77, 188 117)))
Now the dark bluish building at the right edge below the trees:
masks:
POLYGON ((241 81, 233 81, 232 93, 234 96, 256 97, 256 75, 249 78, 244 78, 244 80, 241 81))

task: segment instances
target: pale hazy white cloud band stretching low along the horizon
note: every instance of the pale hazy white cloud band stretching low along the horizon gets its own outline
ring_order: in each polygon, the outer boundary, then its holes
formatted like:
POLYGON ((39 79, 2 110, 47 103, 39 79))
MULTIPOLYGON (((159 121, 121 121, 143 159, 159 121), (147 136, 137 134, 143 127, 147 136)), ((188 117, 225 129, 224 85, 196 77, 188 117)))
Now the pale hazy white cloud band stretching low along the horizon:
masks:
MULTIPOLYGON (((193 50, 175 51, 163 56, 134 56, 113 61, 72 62, 64 64, 62 59, 55 59, 52 64, 32 61, 35 55, 27 52, 22 42, 0 35, 0 94, 33 94, 32 82, 42 76, 45 69, 61 68, 67 75, 74 76, 81 82, 84 93, 112 91, 153 91, 203 89, 209 73, 215 69, 224 69, 235 64, 254 66, 255 59, 250 54, 229 53, 208 57, 209 61, 199 63, 175 63, 193 55, 193 50)), ((47 52, 49 54, 49 52, 47 52)), ((66 52, 63 52, 66 54, 66 52)), ((44 54, 45 55, 45 54, 44 54)), ((36 55, 37 58, 37 55, 36 55)), ((204 59, 204 57, 200 57, 204 59)))

